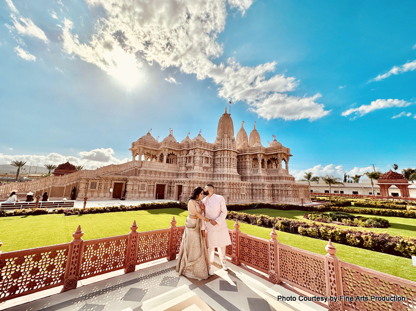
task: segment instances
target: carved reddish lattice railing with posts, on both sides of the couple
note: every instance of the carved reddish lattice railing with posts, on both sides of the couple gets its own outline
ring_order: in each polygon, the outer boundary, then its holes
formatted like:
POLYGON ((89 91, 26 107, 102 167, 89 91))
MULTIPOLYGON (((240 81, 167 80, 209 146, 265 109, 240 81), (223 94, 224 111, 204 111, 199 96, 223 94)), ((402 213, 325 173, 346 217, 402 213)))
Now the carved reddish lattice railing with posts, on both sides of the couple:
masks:
MULTIPOLYGON (((241 233, 239 227, 236 221, 229 230, 232 243, 226 252, 233 264, 243 263, 266 273, 275 284, 284 282, 314 296, 353 297, 329 301, 330 310, 404 311, 416 306, 416 282, 342 262, 331 240, 323 256, 281 244, 275 229, 266 240, 241 233), (370 299, 372 295, 376 298, 370 299)), ((176 259, 185 228, 176 227, 175 217, 167 229, 137 228, 134 221, 129 234, 83 241, 79 226, 70 243, 0 252, 0 301, 57 286, 67 291, 81 279, 119 269, 133 272, 137 264, 156 259, 176 259)))

